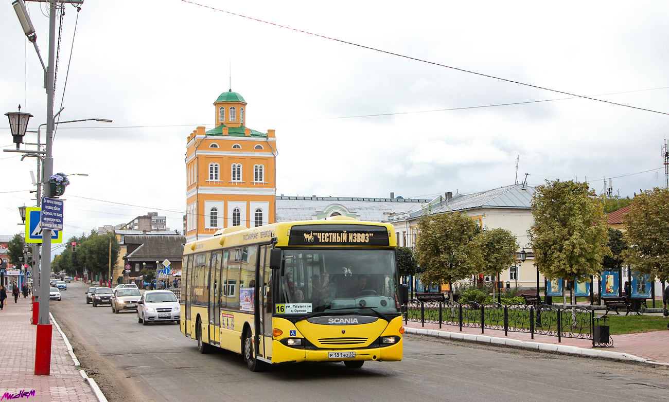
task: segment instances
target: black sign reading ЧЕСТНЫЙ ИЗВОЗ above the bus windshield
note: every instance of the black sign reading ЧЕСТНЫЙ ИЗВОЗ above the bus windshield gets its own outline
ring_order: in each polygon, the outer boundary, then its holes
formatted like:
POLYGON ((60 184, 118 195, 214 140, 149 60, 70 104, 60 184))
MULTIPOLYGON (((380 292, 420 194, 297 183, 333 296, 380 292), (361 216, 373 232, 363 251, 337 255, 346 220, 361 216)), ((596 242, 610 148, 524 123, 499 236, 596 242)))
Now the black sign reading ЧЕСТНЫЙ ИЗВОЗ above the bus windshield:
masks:
POLYGON ((290 229, 288 246, 389 246, 384 226, 355 224, 298 225, 290 229))

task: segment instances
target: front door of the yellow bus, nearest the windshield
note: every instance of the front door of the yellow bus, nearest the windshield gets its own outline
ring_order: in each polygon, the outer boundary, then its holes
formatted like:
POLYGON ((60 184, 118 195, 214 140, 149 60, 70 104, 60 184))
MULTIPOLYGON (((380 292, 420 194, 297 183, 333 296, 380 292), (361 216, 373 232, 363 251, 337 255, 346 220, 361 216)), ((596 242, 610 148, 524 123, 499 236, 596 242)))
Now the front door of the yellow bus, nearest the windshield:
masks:
POLYGON ((260 246, 258 258, 258 355, 272 359, 272 270, 270 269, 271 246, 260 246))

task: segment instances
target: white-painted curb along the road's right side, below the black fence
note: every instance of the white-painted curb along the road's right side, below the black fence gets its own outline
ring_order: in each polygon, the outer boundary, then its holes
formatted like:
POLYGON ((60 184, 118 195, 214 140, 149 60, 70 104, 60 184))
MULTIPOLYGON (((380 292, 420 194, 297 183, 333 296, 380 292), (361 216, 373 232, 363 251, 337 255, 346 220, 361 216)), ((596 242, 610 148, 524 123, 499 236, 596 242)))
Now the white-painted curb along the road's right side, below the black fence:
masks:
POLYGON ((463 333, 452 333, 448 331, 439 331, 436 329, 418 329, 411 327, 404 327, 405 333, 423 335, 425 337, 434 337, 441 339, 450 339, 451 341, 464 341, 471 343, 480 343, 482 345, 494 345, 498 347, 510 347, 516 349, 528 349, 537 352, 559 353, 560 355, 572 355, 578 357, 592 357, 595 359, 608 359, 614 361, 629 361, 636 363, 646 363, 649 365, 660 365, 669 367, 669 363, 660 363, 630 355, 629 353, 600 351, 597 349, 585 349, 575 346, 567 345, 553 345, 552 343, 539 343, 519 341, 518 339, 496 338, 488 337, 486 335, 473 335, 463 333))

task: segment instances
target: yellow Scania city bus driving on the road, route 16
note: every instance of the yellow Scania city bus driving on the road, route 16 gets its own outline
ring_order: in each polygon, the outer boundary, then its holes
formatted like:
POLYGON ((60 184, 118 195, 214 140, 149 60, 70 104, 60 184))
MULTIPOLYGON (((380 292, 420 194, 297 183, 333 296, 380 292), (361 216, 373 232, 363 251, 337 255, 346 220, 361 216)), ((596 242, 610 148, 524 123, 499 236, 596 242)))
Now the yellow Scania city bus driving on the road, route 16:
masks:
POLYGON ((302 361, 402 359, 394 229, 345 216, 233 226, 184 247, 181 333, 251 371, 302 361))

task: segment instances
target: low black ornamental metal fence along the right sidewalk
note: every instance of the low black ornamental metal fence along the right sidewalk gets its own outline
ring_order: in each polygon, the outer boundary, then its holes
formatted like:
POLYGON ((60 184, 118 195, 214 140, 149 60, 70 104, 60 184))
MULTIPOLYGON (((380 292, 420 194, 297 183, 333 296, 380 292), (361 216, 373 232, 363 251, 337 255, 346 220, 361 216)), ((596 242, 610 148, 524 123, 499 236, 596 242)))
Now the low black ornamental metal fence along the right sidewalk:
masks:
POLYGON ((594 311, 580 306, 559 309, 550 305, 500 305, 490 303, 479 305, 475 302, 456 303, 452 300, 425 301, 415 298, 409 300, 404 313, 405 323, 409 321, 421 323, 452 325, 460 327, 496 329, 509 332, 550 335, 562 338, 593 339, 594 311))

